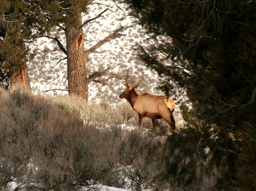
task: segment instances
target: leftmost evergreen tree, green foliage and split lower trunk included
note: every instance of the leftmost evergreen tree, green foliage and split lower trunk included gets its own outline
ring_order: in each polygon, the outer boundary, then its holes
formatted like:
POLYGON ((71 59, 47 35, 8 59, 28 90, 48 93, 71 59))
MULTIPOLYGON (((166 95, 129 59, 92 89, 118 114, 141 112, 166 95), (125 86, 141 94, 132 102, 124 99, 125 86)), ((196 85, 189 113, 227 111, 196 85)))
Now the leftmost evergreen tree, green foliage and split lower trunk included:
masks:
POLYGON ((30 54, 25 44, 31 39, 27 22, 31 11, 23 0, 15 3, 1 0, 0 4, 0 83, 6 88, 21 83, 31 90, 26 65, 30 54))

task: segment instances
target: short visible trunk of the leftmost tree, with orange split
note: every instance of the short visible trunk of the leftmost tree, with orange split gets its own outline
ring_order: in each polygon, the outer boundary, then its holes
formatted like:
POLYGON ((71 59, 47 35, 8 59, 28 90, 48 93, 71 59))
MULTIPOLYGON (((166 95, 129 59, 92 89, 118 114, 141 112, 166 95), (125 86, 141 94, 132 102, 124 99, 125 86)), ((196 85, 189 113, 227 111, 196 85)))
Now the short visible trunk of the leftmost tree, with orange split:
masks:
POLYGON ((21 67, 10 67, 9 76, 11 85, 21 84, 23 87, 31 91, 27 64, 24 59, 21 60, 21 67))

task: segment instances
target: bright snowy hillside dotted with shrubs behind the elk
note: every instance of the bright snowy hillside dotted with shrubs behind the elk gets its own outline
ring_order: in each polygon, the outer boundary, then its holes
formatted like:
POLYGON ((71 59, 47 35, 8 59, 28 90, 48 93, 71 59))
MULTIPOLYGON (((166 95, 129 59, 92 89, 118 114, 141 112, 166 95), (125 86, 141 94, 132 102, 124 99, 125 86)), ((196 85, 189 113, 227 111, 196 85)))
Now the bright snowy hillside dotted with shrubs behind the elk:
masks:
MULTIPOLYGON (((124 4, 118 4, 122 8, 119 9, 112 0, 99 0, 99 4, 89 6, 89 14, 83 15, 83 22, 90 18, 94 18, 99 15, 103 10, 108 8, 109 10, 103 14, 103 17, 88 23, 84 29, 84 42, 85 50, 95 45, 97 42, 107 37, 109 34, 119 28, 120 26, 132 25, 132 19, 127 16, 124 4)), ((135 74, 135 79, 141 78, 141 69, 148 74, 142 81, 138 88, 138 93, 147 91, 152 94, 163 94, 158 91, 157 78, 158 76, 154 71, 150 71, 143 66, 138 60, 134 60, 134 50, 132 46, 135 42, 140 44, 150 44, 147 40, 147 36, 143 34, 143 31, 139 26, 131 26, 122 34, 125 36, 112 40, 102 47, 98 48, 97 53, 89 55, 87 60, 88 69, 97 69, 100 65, 105 67, 111 67, 114 71, 123 71, 126 73, 127 69, 130 69, 130 73, 135 74)), ((51 34, 53 37, 55 34, 51 34)), ((60 35, 60 41, 64 47, 66 47, 65 35, 60 35)), ((40 38, 33 44, 31 49, 38 50, 36 59, 28 63, 31 88, 34 93, 42 93, 42 91, 51 89, 64 89, 67 90, 67 65, 66 57, 62 51, 52 52, 51 54, 43 57, 44 50, 53 50, 57 47, 55 41, 48 38, 40 38)), ((111 103, 120 103, 121 100, 118 95, 123 92, 124 86, 118 81, 115 81, 112 87, 99 87, 93 82, 89 87, 89 100, 102 100, 108 99, 111 103)), ((45 94, 54 93, 54 91, 48 91, 45 94)), ((57 91, 58 94, 67 94, 67 91, 57 91)), ((125 100, 122 100, 125 101, 125 100)))

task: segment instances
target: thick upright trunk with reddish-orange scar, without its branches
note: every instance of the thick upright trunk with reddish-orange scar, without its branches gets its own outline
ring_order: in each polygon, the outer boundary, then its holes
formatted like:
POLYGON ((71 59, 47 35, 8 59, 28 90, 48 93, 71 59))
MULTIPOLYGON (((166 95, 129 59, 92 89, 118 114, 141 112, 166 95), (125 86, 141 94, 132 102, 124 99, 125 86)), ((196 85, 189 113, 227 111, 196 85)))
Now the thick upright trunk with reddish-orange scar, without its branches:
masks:
POLYGON ((86 103, 88 102, 88 79, 86 56, 84 50, 82 15, 78 13, 73 17, 73 22, 66 24, 67 41, 67 79, 69 95, 78 95, 86 103), (78 43, 78 44, 77 44, 78 43))

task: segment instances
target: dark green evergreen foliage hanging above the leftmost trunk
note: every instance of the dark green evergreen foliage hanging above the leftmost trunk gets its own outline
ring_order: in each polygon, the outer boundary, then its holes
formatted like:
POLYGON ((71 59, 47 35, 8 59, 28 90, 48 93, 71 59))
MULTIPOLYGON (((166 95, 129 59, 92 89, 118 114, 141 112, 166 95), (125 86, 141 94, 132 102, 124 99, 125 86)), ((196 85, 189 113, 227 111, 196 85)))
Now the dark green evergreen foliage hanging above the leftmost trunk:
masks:
POLYGON ((0 67, 21 67, 21 59, 27 59, 28 46, 24 41, 31 39, 31 25, 27 17, 31 13, 26 2, 1 1, 0 24, 0 67))

